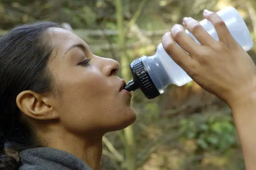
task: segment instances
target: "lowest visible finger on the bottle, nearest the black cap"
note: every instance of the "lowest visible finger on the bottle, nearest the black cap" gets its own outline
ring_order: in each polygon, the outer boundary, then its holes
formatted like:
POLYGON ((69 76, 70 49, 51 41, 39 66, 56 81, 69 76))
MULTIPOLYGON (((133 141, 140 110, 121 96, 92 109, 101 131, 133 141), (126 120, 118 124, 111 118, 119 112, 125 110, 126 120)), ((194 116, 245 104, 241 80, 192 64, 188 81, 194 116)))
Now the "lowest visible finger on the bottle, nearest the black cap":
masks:
POLYGON ((162 45, 167 54, 178 64, 185 72, 189 71, 196 64, 196 61, 191 58, 184 50, 175 44, 170 32, 167 32, 162 37, 162 45))

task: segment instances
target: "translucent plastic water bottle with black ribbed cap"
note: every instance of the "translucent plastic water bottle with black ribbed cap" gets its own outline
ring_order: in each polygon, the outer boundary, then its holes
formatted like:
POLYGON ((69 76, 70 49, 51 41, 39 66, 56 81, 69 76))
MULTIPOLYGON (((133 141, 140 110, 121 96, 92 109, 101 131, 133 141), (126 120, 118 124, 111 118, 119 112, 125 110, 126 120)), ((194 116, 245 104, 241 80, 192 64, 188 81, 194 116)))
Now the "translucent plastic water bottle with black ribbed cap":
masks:
MULTIPOLYGON (((216 12, 216 14, 222 18, 231 35, 245 51, 253 47, 253 40, 247 25, 235 8, 225 7, 216 12)), ((211 37, 217 41, 219 40, 217 32, 210 21, 204 19, 199 23, 211 37)), ((191 32, 185 31, 200 44, 191 32)), ((182 86, 192 81, 187 73, 166 53, 162 43, 157 45, 155 55, 142 56, 132 61, 130 69, 133 79, 125 85, 124 89, 127 91, 140 89, 148 99, 164 93, 168 85, 182 86)))

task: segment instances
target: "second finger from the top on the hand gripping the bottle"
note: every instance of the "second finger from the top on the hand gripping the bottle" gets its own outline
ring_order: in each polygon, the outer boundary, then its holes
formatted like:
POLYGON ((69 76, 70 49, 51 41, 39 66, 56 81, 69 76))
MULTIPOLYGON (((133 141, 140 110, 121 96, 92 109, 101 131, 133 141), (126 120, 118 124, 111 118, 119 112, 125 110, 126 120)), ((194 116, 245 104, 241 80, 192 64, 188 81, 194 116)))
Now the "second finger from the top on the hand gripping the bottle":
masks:
POLYGON ((193 34, 193 36, 198 40, 200 44, 211 46, 218 43, 195 19, 191 17, 185 17, 183 18, 183 24, 186 26, 187 30, 193 34))

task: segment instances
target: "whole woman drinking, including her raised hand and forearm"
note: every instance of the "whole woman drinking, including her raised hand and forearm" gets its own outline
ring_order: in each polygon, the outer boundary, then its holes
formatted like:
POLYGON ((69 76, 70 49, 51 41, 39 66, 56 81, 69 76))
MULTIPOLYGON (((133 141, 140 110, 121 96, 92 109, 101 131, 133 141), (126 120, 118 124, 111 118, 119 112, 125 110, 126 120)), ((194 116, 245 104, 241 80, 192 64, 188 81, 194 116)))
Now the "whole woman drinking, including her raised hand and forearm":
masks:
MULTIPOLYGON (((247 169, 253 169, 255 65, 215 13, 205 11, 204 16, 216 26, 219 42, 197 21, 184 18, 184 25, 203 45, 180 25, 166 33, 162 43, 199 85, 232 108, 247 169)), ((118 70, 116 61, 93 55, 81 38, 55 23, 24 25, 4 35, 0 168, 99 169, 102 136, 136 119, 118 70), (7 147, 19 151, 20 164, 4 154, 7 147)))

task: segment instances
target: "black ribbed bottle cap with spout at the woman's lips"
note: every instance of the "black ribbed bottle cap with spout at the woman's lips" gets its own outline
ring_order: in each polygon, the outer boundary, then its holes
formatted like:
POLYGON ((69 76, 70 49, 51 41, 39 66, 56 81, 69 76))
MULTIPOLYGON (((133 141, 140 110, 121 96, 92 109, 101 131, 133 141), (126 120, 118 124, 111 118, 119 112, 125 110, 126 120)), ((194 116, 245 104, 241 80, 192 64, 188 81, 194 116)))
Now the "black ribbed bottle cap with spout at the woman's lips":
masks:
POLYGON ((141 58, 137 58, 130 64, 133 80, 129 81, 124 89, 128 91, 134 91, 138 88, 148 98, 152 99, 160 95, 159 91, 155 87, 152 79, 149 76, 141 58))

